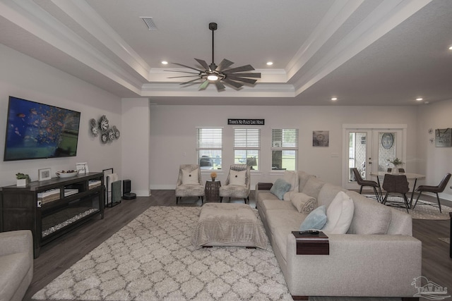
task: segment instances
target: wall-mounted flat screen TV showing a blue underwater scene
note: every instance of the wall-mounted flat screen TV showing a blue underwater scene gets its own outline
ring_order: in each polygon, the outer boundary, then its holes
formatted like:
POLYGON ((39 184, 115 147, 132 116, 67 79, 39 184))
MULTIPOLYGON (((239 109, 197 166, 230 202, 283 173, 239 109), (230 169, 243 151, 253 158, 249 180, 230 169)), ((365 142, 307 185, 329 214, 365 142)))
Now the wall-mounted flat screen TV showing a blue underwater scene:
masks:
POLYGON ((4 161, 76 156, 80 112, 9 97, 4 161))

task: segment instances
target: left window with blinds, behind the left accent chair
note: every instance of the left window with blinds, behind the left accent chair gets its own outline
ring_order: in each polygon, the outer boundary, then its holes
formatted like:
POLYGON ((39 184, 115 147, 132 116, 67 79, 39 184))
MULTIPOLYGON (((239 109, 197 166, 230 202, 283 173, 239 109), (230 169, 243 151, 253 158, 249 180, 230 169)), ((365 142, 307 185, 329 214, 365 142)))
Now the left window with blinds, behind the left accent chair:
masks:
POLYGON ((196 128, 196 154, 201 169, 221 169, 222 128, 196 128))

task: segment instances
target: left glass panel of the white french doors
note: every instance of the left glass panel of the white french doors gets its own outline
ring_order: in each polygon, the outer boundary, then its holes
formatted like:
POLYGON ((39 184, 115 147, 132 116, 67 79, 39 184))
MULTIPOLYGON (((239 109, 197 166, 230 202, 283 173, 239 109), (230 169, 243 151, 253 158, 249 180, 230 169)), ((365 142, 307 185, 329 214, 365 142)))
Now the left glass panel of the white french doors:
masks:
POLYGON ((352 168, 356 167, 363 179, 366 178, 367 133, 350 132, 348 147, 348 181, 356 182, 352 168))

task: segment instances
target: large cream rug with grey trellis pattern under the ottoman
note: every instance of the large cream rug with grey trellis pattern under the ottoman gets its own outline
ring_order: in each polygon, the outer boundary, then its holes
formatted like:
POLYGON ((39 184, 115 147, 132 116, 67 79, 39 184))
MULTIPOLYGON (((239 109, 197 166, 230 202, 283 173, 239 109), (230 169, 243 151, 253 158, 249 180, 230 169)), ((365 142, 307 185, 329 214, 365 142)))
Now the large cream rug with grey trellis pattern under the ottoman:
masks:
MULTIPOLYGON (((270 245, 196 250, 201 207, 150 207, 35 300, 292 300, 270 245)), ((257 214, 257 211, 256 211, 257 214)))

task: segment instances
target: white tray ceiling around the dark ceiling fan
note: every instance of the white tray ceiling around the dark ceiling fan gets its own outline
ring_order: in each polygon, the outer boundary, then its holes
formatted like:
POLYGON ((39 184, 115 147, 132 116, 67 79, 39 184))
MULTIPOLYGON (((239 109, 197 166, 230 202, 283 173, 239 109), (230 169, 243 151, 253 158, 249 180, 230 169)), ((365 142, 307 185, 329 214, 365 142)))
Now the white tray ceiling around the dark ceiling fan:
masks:
POLYGON ((0 42, 156 104, 420 105, 452 99, 450 0, 0 0, 0 42), (153 18, 148 30, 140 17, 153 18), (251 64, 240 90, 167 70, 251 64), (266 66, 273 61, 273 66, 266 66), (331 97, 338 101, 331 102, 331 97), (424 101, 417 102, 417 97, 424 101))

